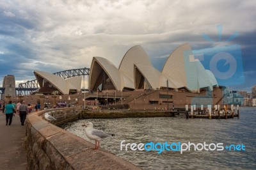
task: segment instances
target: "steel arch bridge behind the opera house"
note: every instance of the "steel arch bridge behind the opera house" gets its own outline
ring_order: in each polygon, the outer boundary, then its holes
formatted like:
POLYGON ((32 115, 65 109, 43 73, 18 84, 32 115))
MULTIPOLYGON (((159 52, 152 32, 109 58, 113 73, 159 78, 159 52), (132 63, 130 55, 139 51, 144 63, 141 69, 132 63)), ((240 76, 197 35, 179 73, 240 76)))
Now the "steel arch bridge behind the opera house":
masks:
MULTIPOLYGON (((56 72, 53 73, 55 75, 59 75, 60 77, 62 77, 63 79, 68 79, 70 77, 77 77, 77 76, 85 76, 87 75, 87 77, 89 76, 90 73, 90 68, 76 68, 76 69, 72 69, 72 70, 64 70, 61 72, 56 72)), ((84 87, 84 86, 83 86, 84 87)), ((16 94, 19 96, 24 96, 24 95, 30 95, 31 93, 33 93, 33 91, 39 89, 39 84, 37 82, 36 79, 32 80, 32 81, 27 81, 24 83, 20 83, 18 88, 16 89, 16 94)), ((81 89, 82 91, 88 91, 88 89, 81 89)), ((0 94, 4 94, 4 88, 0 88, 0 94)))

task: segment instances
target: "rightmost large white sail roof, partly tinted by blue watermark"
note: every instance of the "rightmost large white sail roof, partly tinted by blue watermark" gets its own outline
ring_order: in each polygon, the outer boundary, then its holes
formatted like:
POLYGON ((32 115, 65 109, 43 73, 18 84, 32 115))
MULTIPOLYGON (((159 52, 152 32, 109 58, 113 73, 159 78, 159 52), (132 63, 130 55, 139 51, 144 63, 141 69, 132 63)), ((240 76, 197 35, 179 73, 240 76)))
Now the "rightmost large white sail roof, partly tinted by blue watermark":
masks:
MULTIPOLYGON (((164 63, 162 75, 173 83, 174 88, 186 87, 191 91, 218 85, 210 70, 205 70, 198 59, 195 59, 188 43, 173 50, 164 63)), ((172 88, 172 86, 169 86, 172 88)))

